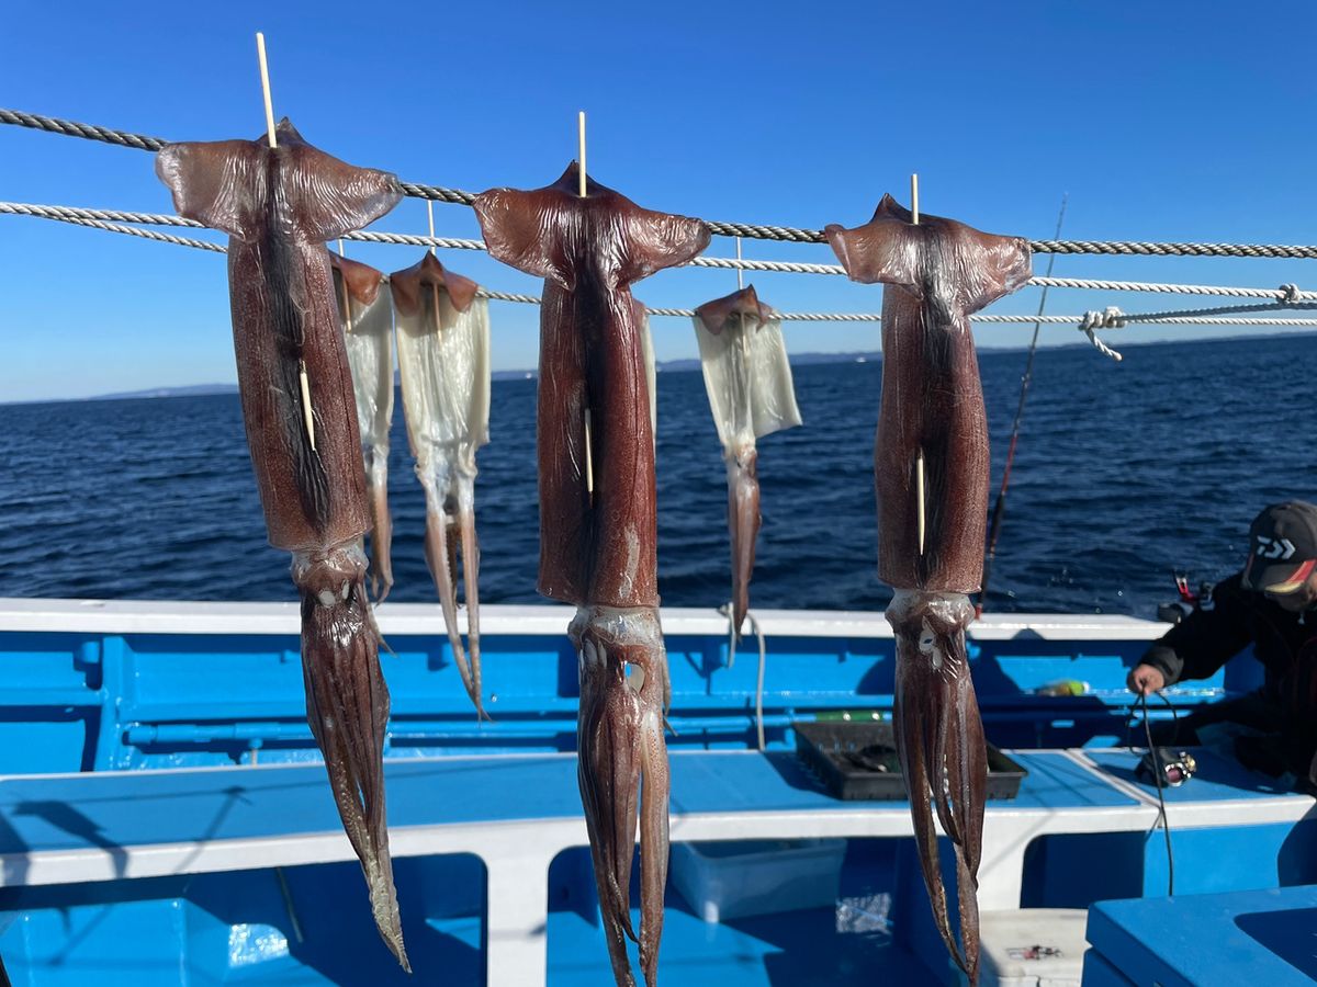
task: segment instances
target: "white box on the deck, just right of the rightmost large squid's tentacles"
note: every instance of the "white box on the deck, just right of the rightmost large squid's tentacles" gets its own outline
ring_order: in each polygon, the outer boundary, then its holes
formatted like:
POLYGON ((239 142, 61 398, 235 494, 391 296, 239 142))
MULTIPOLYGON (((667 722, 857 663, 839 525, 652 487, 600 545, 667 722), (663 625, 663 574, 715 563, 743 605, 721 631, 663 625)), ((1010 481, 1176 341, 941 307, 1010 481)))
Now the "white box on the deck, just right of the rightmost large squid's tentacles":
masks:
MULTIPOLYGON (((1087 923, 1083 908, 982 912, 980 987, 1080 987, 1087 923)), ((960 983, 965 983, 964 974, 960 983)))

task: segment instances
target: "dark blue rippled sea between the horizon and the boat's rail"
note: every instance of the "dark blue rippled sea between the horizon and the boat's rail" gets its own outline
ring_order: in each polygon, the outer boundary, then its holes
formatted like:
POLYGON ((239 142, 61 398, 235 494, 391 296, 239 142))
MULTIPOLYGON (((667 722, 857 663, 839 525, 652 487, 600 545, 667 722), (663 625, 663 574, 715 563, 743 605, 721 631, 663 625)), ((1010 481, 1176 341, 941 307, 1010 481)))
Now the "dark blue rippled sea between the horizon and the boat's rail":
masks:
MULTIPOLYGON (((1237 569, 1249 521, 1317 500, 1317 337, 1042 350, 992 567, 989 611, 1131 613, 1237 569)), ((980 365, 993 495, 1022 351, 980 365)), ((805 426, 760 441, 752 605, 880 609, 872 453, 881 362, 795 370, 805 426)), ((483 603, 535 603, 535 382, 494 384, 477 483, 483 603)), ((399 401, 399 408, 402 403, 399 401)), ((392 600, 433 601, 424 508, 395 416, 392 600)), ((697 372, 658 375, 665 605, 728 599, 726 479, 697 372)), ((236 395, 0 405, 0 595, 291 600, 266 545, 236 395)))

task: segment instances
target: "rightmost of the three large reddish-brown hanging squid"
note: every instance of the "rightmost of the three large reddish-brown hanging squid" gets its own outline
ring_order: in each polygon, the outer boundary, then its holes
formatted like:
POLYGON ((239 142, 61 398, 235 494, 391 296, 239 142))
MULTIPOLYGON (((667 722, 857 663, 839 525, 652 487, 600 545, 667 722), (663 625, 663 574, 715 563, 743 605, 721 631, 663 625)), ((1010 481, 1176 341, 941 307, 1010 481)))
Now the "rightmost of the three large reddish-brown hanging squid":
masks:
POLYGON ((942 938, 979 971, 979 861, 988 754, 965 653, 982 576, 988 418, 969 313, 1030 276, 1029 242, 921 216, 884 196, 856 229, 828 226, 851 280, 882 292, 882 403, 873 466, 878 578, 896 590, 893 719, 923 879, 942 938), (947 916, 932 815, 956 851, 960 940, 947 916), (963 950, 963 951, 961 951, 963 950))

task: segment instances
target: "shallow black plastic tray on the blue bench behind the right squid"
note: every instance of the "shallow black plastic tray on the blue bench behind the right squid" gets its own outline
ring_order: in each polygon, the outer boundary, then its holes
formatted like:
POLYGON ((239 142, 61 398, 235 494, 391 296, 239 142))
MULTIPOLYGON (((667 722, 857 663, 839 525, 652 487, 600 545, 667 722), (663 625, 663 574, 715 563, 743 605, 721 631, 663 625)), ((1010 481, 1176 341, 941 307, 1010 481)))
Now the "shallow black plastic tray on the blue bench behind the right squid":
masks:
MULTIPOLYGON (((798 722, 794 729, 795 755, 814 770, 835 797, 906 797, 890 720, 798 722)), ((988 745, 989 799, 1014 799, 1027 774, 1022 765, 988 745)))

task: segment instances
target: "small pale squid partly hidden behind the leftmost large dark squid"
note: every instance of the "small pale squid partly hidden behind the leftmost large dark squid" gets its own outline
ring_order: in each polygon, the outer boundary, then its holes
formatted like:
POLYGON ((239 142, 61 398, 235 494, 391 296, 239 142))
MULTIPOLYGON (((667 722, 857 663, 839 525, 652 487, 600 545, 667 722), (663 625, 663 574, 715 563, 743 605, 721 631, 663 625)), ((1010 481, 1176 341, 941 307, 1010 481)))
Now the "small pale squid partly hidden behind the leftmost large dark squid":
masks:
POLYGON ((369 265, 329 254, 342 326, 357 429, 370 499, 370 595, 379 603, 394 586, 392 519, 389 516, 389 429, 394 422, 394 311, 385 275, 369 265))

